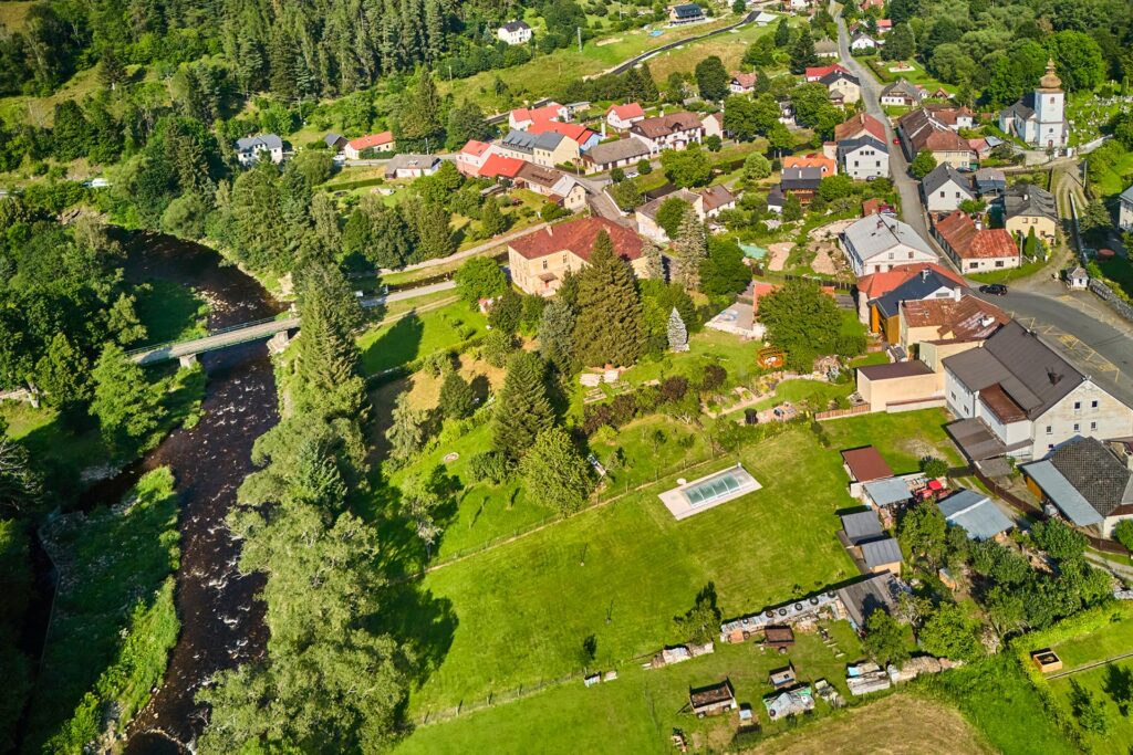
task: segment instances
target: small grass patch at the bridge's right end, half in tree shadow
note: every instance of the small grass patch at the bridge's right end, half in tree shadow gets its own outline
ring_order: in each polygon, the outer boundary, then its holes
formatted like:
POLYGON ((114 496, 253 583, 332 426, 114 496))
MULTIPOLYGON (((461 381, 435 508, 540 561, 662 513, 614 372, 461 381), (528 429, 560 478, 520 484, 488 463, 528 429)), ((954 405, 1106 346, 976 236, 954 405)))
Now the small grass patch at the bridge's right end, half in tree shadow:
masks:
POLYGON ((484 333, 486 318, 457 301, 438 309, 411 314, 395 323, 372 328, 358 338, 363 369, 374 375, 443 349, 452 349, 484 333))

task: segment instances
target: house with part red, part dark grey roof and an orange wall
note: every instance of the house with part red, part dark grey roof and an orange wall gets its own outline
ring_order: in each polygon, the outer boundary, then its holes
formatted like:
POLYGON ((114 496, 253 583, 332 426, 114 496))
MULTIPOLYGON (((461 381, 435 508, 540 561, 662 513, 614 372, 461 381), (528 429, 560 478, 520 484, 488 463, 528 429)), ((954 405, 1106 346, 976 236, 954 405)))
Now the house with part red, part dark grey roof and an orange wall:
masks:
POLYGON ((880 333, 897 343, 901 332, 901 302, 925 299, 960 300, 968 289, 963 278, 934 264, 898 265, 885 273, 858 278, 859 319, 870 333, 880 333))

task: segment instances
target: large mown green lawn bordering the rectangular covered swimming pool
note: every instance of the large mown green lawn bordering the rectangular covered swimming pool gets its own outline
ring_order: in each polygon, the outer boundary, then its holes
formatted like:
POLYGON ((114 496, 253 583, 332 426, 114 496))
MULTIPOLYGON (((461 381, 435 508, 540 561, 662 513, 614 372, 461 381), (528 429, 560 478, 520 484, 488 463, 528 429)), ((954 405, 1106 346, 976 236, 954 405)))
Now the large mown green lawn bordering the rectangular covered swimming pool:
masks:
MULTIPOLYGON (((431 573, 420 592, 450 604, 454 617, 443 625, 403 617, 423 645, 444 649, 412 694, 412 712, 577 671, 589 635, 599 666, 651 653, 681 638, 672 618, 708 583, 724 615, 734 616, 853 575, 835 539, 834 513, 852 503, 837 453, 793 429, 738 456, 763 490, 678 523, 656 497, 674 484, 662 478, 431 573)), ((690 477, 731 463, 722 457, 690 477)))

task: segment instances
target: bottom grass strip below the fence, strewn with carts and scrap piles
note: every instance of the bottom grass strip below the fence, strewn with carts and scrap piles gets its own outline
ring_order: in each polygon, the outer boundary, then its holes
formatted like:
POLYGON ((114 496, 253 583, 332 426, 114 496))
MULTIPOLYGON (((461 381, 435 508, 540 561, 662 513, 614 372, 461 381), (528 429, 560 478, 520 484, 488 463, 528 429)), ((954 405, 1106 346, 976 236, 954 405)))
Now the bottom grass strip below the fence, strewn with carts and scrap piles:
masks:
MULTIPOLYGON (((493 753, 668 753, 670 735, 680 729, 690 744, 710 745, 722 752, 738 723, 735 713, 697 719, 682 707, 689 688, 731 680, 736 700, 750 704, 767 735, 785 731, 786 723, 772 723, 761 698, 772 690, 767 676, 787 662, 806 681, 826 678, 845 690, 845 661, 860 654, 849 624, 829 625, 838 659, 817 634, 798 635, 789 655, 764 653, 753 643, 717 645, 716 652, 662 669, 636 664, 619 669, 619 678, 587 688, 574 679, 535 693, 530 697, 500 702, 493 707, 457 719, 419 727, 398 747, 400 754, 483 752, 493 753)), ((600 650, 600 645, 599 645, 600 650)), ((600 664, 596 667, 603 669, 600 664)), ((830 713, 818 702, 815 717, 830 713)), ((816 724, 821 726, 821 724, 816 724)), ((695 747, 695 745, 693 745, 695 747)))

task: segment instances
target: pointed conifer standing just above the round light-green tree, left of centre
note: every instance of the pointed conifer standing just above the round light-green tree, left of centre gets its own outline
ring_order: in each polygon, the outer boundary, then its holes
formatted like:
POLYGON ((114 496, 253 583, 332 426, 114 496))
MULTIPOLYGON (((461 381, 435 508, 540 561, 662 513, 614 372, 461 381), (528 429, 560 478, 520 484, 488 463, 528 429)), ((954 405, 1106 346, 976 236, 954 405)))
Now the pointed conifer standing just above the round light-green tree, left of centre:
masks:
POLYGON ((513 354, 492 418, 493 447, 510 460, 519 460, 536 436, 553 423, 543 360, 529 351, 513 354))

